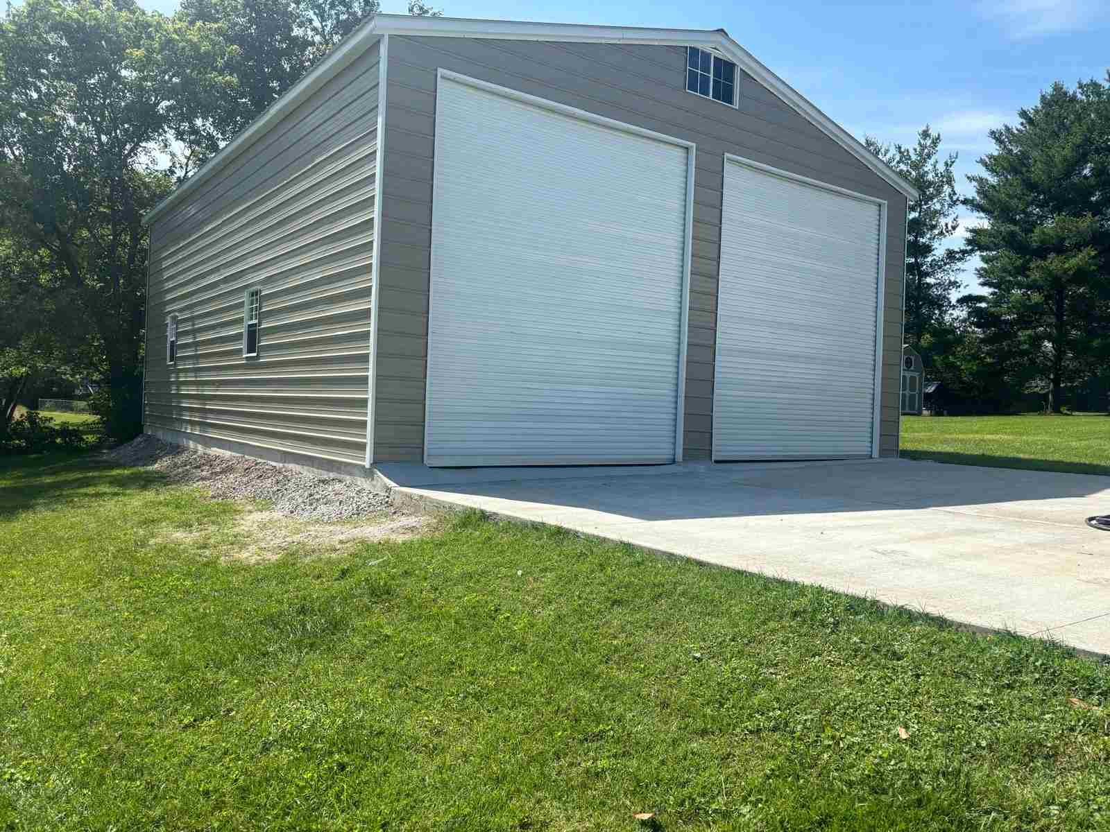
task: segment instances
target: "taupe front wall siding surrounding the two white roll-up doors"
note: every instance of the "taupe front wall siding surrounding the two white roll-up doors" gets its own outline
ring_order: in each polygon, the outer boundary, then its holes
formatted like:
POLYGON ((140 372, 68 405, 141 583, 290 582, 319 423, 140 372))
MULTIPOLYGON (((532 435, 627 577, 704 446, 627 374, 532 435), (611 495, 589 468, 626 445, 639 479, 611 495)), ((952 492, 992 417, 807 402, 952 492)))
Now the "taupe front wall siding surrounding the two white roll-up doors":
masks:
MULTIPOLYGON (((392 35, 381 321, 385 310, 403 306, 410 316, 422 317, 426 333, 435 72, 442 67, 697 144, 684 408, 687 459, 707 459, 712 446, 724 153, 886 200, 880 448, 884 455, 896 454, 899 390, 898 381, 888 377, 900 378, 906 197, 743 72, 737 108, 686 92, 685 60, 685 50, 677 47, 392 35)), ((415 325, 407 317, 404 332, 379 331, 376 460, 422 458, 426 334, 414 333, 415 325)))

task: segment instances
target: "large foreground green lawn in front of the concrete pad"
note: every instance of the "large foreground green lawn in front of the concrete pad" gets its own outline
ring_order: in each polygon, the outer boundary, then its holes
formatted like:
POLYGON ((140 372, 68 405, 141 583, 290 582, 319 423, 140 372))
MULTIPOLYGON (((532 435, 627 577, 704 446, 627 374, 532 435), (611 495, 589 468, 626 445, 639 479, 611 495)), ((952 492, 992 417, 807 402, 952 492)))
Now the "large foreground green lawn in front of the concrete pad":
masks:
POLYGON ((1110 666, 1050 645, 477 516, 249 564, 149 471, 0 488, 0 830, 1110 829, 1110 666))

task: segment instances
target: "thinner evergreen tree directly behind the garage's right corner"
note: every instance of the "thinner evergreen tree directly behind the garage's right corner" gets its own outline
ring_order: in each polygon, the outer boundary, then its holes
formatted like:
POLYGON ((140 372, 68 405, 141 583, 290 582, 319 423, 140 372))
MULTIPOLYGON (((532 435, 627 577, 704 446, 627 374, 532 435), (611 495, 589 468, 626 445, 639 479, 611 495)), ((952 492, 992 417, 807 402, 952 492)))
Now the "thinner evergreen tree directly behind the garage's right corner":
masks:
POLYGON ((955 153, 940 155, 940 134, 926 124, 911 146, 882 144, 868 136, 867 149, 919 192, 910 202, 906 227, 906 339, 930 358, 930 334, 947 327, 960 288, 968 252, 951 244, 959 227, 955 153))

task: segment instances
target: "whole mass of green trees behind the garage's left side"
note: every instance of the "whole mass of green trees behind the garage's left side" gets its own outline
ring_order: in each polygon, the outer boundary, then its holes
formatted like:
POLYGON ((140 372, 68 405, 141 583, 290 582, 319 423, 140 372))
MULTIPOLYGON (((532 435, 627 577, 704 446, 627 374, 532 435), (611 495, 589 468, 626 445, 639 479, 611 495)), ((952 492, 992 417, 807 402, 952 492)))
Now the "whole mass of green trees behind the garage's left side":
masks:
MULTIPOLYGON (((411 8, 437 13, 418 0, 411 8)), ((110 387, 109 434, 141 429, 143 215, 375 11, 377 0, 185 0, 173 17, 134 0, 9 8, 3 378, 26 378, 32 353, 84 362, 110 387), (49 303, 37 305, 40 296, 49 303), (34 325, 9 329, 9 318, 34 325)), ((0 395, 7 413, 14 399, 0 395)))

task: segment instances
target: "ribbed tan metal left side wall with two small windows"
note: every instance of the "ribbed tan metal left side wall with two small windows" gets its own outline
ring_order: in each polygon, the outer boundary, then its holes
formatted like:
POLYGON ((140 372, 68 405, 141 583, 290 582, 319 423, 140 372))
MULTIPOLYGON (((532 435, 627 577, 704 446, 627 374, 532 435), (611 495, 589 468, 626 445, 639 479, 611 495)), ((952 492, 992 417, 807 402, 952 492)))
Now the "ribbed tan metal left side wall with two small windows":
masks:
POLYGON ((363 464, 377 53, 375 44, 155 221, 150 428, 363 464), (262 288, 260 346, 244 358, 250 286, 262 288))

